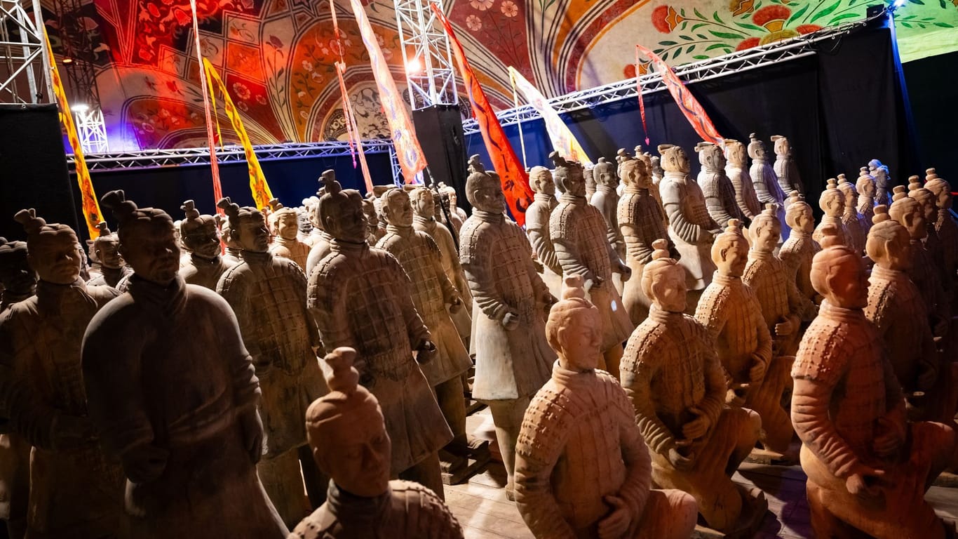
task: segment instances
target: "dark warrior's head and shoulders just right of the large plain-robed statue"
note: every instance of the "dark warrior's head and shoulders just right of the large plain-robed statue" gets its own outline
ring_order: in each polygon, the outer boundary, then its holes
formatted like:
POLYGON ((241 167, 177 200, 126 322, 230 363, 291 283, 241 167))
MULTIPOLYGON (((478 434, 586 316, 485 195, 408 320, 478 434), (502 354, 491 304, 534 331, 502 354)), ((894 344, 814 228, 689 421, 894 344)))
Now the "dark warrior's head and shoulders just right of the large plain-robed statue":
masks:
POLYGON ((217 290, 219 277, 236 266, 225 262, 219 254, 219 214, 199 215, 193 200, 183 202, 180 209, 186 213, 180 223, 180 238, 190 248, 190 258, 180 267, 180 277, 191 285, 217 290))

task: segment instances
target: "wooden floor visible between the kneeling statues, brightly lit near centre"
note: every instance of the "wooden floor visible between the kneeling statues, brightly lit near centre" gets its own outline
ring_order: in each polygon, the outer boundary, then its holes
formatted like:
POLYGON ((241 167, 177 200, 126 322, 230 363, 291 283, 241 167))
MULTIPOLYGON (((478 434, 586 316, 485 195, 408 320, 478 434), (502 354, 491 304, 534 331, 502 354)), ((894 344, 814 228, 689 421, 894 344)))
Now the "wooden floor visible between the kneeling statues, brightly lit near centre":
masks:
MULTIPOLYGON (((478 437, 492 439, 489 410, 470 415, 468 430, 478 437)), ((497 451, 492 449, 493 453, 497 451)), ((801 467, 746 462, 733 480, 764 490, 768 512, 757 539, 812 537, 801 467)), ((502 488, 505 483, 502 464, 493 461, 484 473, 468 482, 445 487, 445 503, 459 519, 466 539, 533 539, 515 504, 506 499, 502 488)), ((958 489, 932 487, 926 499, 941 516, 958 521, 958 489)))

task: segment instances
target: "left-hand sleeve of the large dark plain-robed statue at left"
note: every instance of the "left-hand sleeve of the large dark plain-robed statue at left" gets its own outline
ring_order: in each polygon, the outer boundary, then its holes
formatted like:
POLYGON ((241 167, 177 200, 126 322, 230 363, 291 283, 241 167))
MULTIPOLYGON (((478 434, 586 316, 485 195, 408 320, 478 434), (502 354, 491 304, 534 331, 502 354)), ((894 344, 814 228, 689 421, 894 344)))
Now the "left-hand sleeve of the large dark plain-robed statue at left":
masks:
POLYGON ((87 410, 108 453, 123 457, 153 440, 143 388, 145 319, 109 306, 93 317, 81 350, 87 410), (123 336, 123 339, 118 339, 123 336))

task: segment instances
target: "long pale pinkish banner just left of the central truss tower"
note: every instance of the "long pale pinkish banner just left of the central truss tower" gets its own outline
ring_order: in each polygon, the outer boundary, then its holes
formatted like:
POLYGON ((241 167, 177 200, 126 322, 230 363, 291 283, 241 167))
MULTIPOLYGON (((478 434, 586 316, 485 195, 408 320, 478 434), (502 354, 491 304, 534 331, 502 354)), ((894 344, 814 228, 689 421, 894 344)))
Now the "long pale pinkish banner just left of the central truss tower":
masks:
POLYGON ((386 64, 386 60, 382 56, 382 49, 379 48, 376 34, 369 24, 369 18, 366 17, 362 1, 351 0, 350 3, 353 5, 353 12, 356 16, 356 23, 359 25, 362 42, 369 52, 369 62, 373 65, 373 76, 376 78, 376 87, 379 90, 379 101, 386 112, 386 120, 389 121, 389 130, 393 135, 393 146, 396 147, 402 176, 405 177, 406 183, 413 183, 416 180, 416 175, 421 173, 426 166, 425 155, 422 153, 419 140, 416 138, 416 130, 413 129, 412 120, 406 112, 406 104, 402 100, 402 94, 396 89, 396 81, 393 81, 393 74, 389 71, 389 65, 386 64))

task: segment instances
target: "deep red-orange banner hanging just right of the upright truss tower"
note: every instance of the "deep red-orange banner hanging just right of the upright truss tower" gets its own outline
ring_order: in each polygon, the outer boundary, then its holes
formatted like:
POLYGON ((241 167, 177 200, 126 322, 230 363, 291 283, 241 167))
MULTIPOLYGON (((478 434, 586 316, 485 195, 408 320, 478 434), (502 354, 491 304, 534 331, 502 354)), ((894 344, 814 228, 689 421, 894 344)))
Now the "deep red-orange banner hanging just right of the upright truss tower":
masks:
POLYGON ((449 36, 449 43, 452 45, 452 53, 456 56, 456 63, 459 64, 459 71, 463 76, 463 82, 466 84, 466 91, 469 95, 469 103, 472 105, 472 115, 475 116, 476 123, 479 124, 479 131, 482 132, 482 138, 486 142, 486 150, 489 152, 492 161, 492 168, 502 181, 502 192, 506 195, 506 201, 509 202, 509 211, 513 214, 515 223, 522 226, 526 222, 526 208, 533 201, 533 190, 529 187, 529 175, 522 167, 518 156, 515 155, 513 145, 509 143, 506 132, 502 130, 499 119, 495 117, 495 112, 486 98, 486 92, 479 85, 469 62, 466 59, 466 53, 463 46, 456 39, 456 33, 452 30, 452 25, 445 18, 443 12, 435 4, 429 4, 432 11, 436 13, 436 18, 443 23, 445 34, 449 36))

